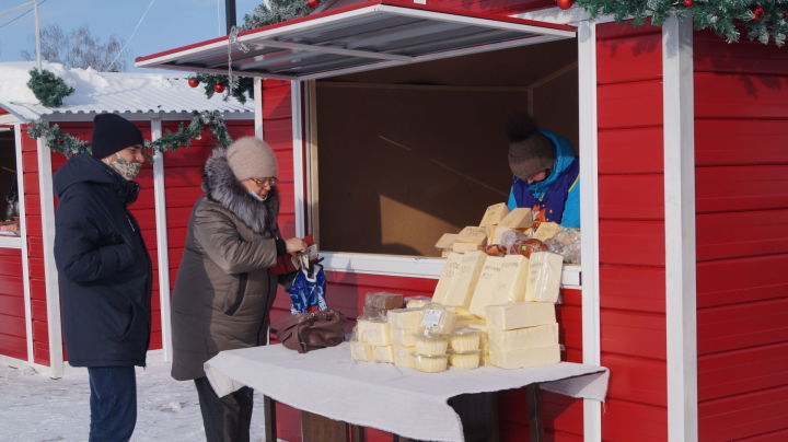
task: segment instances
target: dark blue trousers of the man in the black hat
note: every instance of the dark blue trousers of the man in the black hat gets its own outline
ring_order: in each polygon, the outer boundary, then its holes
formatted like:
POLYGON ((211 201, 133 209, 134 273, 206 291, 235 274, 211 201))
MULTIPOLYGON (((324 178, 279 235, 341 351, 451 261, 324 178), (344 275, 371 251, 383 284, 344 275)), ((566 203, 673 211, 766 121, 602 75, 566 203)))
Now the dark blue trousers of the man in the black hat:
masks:
POLYGON ((126 442, 137 423, 134 367, 88 368, 91 385, 90 442, 126 442))

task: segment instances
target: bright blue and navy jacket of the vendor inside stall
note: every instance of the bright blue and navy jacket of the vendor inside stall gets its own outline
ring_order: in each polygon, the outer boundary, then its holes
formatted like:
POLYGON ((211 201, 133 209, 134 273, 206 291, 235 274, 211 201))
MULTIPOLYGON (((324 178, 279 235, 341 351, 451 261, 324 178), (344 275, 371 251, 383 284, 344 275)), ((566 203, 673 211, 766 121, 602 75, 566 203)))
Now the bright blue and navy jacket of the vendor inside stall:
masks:
POLYGON ((569 140, 540 130, 556 147, 556 161, 546 179, 528 184, 514 177, 509 193, 509 210, 526 207, 540 221, 554 221, 565 228, 580 228, 580 162, 569 140))

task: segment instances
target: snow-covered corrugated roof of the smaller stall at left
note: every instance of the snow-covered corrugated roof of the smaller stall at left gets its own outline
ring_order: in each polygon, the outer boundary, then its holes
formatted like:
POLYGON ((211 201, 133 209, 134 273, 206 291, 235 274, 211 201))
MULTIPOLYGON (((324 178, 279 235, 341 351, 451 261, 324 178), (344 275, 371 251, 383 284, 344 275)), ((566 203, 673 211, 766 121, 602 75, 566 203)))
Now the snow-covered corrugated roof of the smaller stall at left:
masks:
MULTIPOLYGON (((206 97, 201 86, 190 88, 186 74, 139 72, 99 72, 94 69, 67 69, 60 63, 43 62, 43 68, 61 78, 76 92, 60 107, 38 103, 27 88, 34 61, 0 62, 0 107, 21 120, 44 115, 96 113, 253 113, 250 101, 241 104, 232 96, 206 97)), ((250 116, 251 117, 251 116, 250 116)))

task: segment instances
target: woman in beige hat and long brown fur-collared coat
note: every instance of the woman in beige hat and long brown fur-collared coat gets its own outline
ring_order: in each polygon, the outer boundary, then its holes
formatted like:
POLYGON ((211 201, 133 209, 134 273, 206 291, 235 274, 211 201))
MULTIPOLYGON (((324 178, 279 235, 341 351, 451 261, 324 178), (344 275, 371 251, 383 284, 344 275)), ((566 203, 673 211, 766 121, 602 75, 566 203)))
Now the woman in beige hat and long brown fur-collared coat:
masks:
POLYGON ((188 223, 172 299, 173 367, 194 380, 206 439, 248 441, 252 389, 217 397, 202 363, 219 351, 267 342, 277 257, 303 252, 277 226, 277 161, 264 141, 245 137, 217 149, 205 165, 202 190, 188 223))

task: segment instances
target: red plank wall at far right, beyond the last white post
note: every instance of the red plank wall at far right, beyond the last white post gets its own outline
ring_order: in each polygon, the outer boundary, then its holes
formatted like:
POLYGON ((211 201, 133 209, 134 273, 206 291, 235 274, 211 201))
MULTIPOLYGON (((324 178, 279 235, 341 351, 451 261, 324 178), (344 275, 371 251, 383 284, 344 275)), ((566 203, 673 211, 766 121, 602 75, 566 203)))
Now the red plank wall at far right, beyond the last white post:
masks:
POLYGON ((788 53, 696 33, 694 57, 699 439, 786 440, 788 53))

